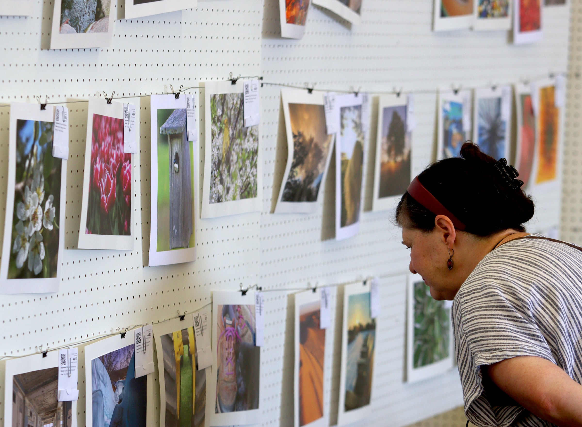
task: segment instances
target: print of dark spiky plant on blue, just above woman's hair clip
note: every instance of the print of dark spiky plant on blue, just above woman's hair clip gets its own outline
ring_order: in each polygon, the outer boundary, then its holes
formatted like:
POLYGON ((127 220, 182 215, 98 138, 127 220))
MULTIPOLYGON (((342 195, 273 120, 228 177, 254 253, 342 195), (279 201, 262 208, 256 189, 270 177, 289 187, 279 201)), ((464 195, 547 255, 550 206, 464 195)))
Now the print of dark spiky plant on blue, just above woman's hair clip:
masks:
POLYGON ((477 89, 473 105, 473 142, 495 160, 509 159, 511 128, 511 89, 477 89), (503 96, 503 90, 508 96, 503 96), (505 104, 504 104, 505 103, 505 104))

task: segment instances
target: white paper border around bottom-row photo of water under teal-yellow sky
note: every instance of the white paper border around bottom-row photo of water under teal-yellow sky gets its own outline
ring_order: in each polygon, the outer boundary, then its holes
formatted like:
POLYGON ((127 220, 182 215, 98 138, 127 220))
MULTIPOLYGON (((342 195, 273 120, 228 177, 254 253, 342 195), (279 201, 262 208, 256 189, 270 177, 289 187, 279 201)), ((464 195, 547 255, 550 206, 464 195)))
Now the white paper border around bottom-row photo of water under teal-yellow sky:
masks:
MULTIPOLYGON (((374 359, 372 359, 372 384, 370 403, 360 408, 351 411, 345 411, 346 401, 346 366, 347 366, 347 316, 349 309, 349 301, 352 295, 368 294, 370 295, 370 280, 346 285, 343 288, 343 323, 342 323, 342 366, 339 380, 339 407, 338 407, 338 425, 352 424, 367 418, 372 413, 371 403, 374 397, 374 374, 375 362, 377 358, 378 348, 378 318, 374 319, 376 322, 376 329, 374 331, 374 359)), ((370 307, 370 315, 372 308, 370 307)))

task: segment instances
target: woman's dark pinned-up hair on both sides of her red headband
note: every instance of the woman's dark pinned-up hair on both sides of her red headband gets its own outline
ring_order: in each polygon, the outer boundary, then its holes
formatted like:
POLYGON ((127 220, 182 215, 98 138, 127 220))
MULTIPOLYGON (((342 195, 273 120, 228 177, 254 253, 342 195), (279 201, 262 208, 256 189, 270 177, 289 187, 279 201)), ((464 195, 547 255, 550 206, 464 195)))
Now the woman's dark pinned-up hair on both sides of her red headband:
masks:
MULTIPOLYGON (((465 142, 460 154, 431 164, 418 180, 465 224, 467 232, 488 236, 508 229, 525 231, 523 224, 534 216, 531 197, 512 186, 496 167, 497 160, 476 144, 465 142)), ((435 214, 408 193, 396 209, 396 220, 407 227, 431 231, 434 219, 435 214)))

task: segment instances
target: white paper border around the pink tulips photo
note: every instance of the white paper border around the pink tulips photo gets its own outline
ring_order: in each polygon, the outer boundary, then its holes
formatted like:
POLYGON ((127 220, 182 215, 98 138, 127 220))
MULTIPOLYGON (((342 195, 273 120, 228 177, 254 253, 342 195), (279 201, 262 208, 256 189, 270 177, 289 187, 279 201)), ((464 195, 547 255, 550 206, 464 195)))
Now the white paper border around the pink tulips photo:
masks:
POLYGON ((114 249, 114 250, 133 250, 133 232, 136 225, 134 224, 133 212, 135 197, 134 193, 134 158, 132 154, 132 206, 130 209, 130 231, 129 236, 108 235, 108 234, 86 234, 87 228, 87 207, 89 200, 89 184, 91 180, 91 147, 93 145, 93 115, 99 114, 106 117, 123 120, 123 104, 112 102, 107 104, 107 100, 101 98, 89 98, 87 107, 87 137, 85 139, 85 168, 83 173, 83 199, 81 203, 81 223, 79 225, 79 242, 78 249, 114 249))

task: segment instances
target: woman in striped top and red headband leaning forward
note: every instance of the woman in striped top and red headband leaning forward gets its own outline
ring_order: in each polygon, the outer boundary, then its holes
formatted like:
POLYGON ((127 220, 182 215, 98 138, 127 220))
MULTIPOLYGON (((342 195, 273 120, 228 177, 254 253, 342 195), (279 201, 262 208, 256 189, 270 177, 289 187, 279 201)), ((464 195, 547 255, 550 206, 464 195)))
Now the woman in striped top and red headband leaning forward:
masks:
POLYGON ((467 418, 477 426, 582 426, 582 252, 528 235, 517 172, 463 144, 396 209, 410 271, 453 300, 467 418))

